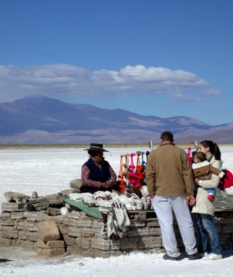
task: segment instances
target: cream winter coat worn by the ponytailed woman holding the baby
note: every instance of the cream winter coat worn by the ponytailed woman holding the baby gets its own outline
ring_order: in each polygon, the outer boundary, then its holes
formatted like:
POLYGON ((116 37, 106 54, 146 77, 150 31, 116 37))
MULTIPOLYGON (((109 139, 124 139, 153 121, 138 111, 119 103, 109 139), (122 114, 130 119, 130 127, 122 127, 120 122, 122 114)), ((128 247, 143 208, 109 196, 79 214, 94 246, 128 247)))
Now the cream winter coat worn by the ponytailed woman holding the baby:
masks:
MULTIPOLYGON (((213 167, 222 170, 222 161, 215 160, 214 156, 210 160, 210 164, 213 167)), ((196 196, 196 203, 193 206, 192 213, 205 213, 210 214, 211 216, 214 215, 215 210, 215 200, 214 202, 210 202, 208 200, 208 192, 206 189, 216 188, 218 186, 220 178, 212 174, 210 180, 201 181, 202 187, 198 187, 197 189, 197 196, 196 196)))

